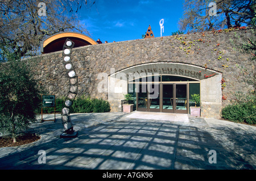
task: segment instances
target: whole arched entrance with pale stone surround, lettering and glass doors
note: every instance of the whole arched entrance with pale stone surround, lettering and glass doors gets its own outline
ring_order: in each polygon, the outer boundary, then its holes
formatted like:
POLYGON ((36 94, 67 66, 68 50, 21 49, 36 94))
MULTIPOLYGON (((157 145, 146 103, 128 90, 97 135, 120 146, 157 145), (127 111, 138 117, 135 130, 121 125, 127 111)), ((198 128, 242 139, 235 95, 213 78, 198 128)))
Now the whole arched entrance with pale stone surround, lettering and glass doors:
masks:
POLYGON ((123 94, 131 94, 137 111, 189 113, 189 107, 195 105, 191 95, 200 94, 203 115, 219 114, 221 78, 221 73, 200 66, 154 62, 112 71, 108 96, 113 103, 121 102, 123 94))

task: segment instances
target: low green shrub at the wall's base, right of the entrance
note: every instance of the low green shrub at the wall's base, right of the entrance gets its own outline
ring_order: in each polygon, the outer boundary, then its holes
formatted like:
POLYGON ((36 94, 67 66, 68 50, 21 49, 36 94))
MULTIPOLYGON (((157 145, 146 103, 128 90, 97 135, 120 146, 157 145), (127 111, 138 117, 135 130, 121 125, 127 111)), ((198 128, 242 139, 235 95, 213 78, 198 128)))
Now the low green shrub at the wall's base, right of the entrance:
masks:
POLYGON ((256 102, 250 101, 240 104, 228 105, 222 109, 224 119, 247 124, 256 124, 256 102))

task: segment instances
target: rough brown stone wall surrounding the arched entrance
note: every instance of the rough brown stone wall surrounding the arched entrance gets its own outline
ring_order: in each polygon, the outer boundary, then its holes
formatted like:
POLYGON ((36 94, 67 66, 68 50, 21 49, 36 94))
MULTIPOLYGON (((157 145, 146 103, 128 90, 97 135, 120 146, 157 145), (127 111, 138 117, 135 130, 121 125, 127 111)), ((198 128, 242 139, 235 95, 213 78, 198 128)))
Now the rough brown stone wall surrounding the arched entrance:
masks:
MULTIPOLYGON (((249 91, 250 87, 243 82, 243 78, 249 75, 243 75, 238 68, 243 66, 247 71, 255 71, 255 65, 250 60, 252 55, 242 53, 239 48, 241 43, 247 42, 248 37, 249 30, 222 30, 74 48, 71 59, 79 79, 78 95, 107 100, 107 93, 97 91, 101 81, 97 76, 99 73, 110 75, 111 68, 117 72, 150 62, 180 62, 222 74, 225 79, 222 90, 226 98, 222 100, 224 107, 233 99, 234 92, 249 91)), ((34 69, 36 79, 47 88, 49 94, 66 96, 69 82, 62 51, 42 54, 27 61, 35 60, 38 61, 34 69)))

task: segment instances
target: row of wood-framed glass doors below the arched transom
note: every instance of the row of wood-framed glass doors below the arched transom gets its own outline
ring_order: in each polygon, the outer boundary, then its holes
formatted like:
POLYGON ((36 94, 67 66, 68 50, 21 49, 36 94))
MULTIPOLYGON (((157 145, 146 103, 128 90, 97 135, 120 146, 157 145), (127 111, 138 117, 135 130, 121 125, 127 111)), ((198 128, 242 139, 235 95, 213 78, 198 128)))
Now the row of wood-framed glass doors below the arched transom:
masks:
MULTIPOLYGON (((200 83, 197 83, 200 85, 200 83)), ((188 113, 189 83, 164 82, 134 84, 134 103, 137 111, 188 113)), ((134 107, 135 108, 135 107, 134 107)))

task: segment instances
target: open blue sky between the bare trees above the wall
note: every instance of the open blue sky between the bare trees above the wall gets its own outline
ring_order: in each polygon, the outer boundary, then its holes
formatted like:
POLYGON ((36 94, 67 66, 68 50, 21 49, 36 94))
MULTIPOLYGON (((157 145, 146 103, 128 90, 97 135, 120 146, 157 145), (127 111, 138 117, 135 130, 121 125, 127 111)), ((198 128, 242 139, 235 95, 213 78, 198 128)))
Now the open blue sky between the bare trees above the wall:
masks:
POLYGON ((183 13, 181 0, 99 0, 89 10, 81 10, 84 23, 92 39, 126 41, 142 39, 150 25, 155 37, 160 37, 161 19, 164 19, 162 36, 178 30, 177 22, 183 13))

